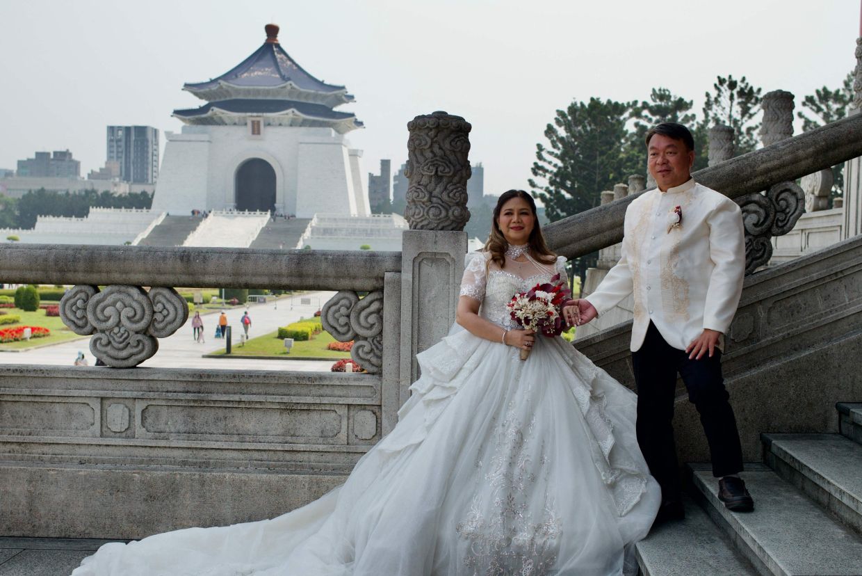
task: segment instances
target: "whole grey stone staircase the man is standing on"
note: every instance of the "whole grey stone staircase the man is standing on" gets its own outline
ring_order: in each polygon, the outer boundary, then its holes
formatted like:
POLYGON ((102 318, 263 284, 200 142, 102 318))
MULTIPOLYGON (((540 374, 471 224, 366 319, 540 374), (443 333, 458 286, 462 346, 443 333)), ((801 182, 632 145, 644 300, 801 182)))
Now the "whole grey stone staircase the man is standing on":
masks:
POLYGON ((741 474, 753 512, 727 510, 709 465, 690 464, 685 520, 638 543, 640 573, 862 574, 862 404, 837 410, 840 434, 761 435, 765 464, 741 474))

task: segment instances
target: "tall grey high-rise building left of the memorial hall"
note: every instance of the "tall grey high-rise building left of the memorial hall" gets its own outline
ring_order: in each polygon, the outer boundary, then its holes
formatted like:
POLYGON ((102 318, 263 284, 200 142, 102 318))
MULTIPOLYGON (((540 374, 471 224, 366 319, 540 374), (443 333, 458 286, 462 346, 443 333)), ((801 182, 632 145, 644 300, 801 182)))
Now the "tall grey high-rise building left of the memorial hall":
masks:
POLYGON ((120 165, 123 182, 153 184, 159 178, 159 130, 152 126, 109 126, 108 161, 120 165))

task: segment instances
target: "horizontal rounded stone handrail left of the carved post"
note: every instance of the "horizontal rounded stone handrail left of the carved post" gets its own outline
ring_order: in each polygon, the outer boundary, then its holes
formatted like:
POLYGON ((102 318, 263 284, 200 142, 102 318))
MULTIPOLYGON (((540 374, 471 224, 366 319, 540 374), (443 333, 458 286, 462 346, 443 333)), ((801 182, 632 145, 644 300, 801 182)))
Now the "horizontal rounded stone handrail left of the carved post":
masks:
POLYGON ((11 284, 378 290, 401 253, 210 247, 0 245, 11 284))

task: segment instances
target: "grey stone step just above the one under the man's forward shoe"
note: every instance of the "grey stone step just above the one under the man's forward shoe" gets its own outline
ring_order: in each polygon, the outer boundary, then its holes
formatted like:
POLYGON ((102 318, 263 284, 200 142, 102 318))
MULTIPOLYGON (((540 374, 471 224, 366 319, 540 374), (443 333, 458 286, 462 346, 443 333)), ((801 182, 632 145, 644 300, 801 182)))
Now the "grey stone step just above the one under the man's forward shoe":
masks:
POLYGON ((862 534, 862 445, 838 434, 765 434, 763 440, 765 461, 779 476, 862 534))

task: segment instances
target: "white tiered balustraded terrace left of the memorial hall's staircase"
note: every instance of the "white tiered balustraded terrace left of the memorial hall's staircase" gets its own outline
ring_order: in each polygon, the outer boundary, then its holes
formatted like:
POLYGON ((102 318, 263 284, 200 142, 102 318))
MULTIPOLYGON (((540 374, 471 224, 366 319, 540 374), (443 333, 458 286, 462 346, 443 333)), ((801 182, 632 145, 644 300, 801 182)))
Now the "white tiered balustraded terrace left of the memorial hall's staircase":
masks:
POLYGON ((165 212, 125 208, 91 208, 83 218, 38 216, 33 229, 2 229, 0 238, 16 235, 29 244, 134 243, 165 218, 165 212))

